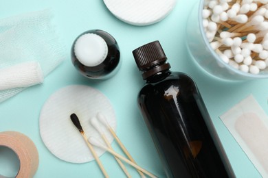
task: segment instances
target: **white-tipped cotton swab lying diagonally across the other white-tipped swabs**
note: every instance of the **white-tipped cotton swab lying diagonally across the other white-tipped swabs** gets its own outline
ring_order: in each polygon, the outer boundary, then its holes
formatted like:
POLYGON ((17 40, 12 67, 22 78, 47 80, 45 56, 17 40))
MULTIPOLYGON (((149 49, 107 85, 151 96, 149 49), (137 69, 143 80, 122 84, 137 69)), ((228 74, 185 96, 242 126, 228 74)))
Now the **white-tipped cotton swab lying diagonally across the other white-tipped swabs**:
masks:
POLYGON ((123 157, 122 155, 116 153, 115 151, 109 149, 108 147, 104 146, 101 142, 99 142, 98 139, 93 138, 93 137, 89 137, 89 142, 91 142, 91 144, 95 145, 96 147, 100 147, 101 149, 104 149, 106 151, 108 151, 109 153, 111 153, 112 155, 115 155, 116 157, 120 158, 120 160, 123 160, 124 162, 126 162, 127 164, 130 164, 131 166, 133 166, 134 168, 142 171, 143 173, 145 173, 146 175, 148 175, 149 177, 155 178, 156 176, 153 175, 152 173, 148 172, 148 170, 145 170, 144 168, 138 166, 137 164, 131 162, 130 160, 126 159, 126 157, 123 157))

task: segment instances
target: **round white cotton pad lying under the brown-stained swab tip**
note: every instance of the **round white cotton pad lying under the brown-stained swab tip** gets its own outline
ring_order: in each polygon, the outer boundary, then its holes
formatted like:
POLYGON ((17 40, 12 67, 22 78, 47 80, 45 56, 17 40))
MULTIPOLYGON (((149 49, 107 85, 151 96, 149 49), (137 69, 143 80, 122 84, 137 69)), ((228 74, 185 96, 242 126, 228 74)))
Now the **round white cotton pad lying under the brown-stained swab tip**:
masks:
MULTIPOLYGON (((71 122, 70 115, 75 113, 78 116, 88 137, 93 136, 102 141, 100 133, 90 122, 98 112, 106 116, 109 125, 115 130, 115 112, 109 99, 100 91, 80 85, 56 91, 43 105, 39 120, 41 138, 47 149, 66 162, 84 163, 94 160, 85 140, 71 122)), ((111 133, 101 123, 100 127, 109 142, 112 142, 111 133)), ((97 147, 95 150, 99 156, 105 152, 97 147)))

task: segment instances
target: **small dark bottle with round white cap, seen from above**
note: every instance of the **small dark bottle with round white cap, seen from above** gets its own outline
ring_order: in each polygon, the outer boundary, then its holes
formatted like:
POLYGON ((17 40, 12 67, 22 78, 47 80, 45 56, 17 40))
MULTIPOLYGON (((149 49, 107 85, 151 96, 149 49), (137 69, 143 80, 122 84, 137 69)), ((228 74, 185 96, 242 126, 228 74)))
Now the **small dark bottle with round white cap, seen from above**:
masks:
POLYGON ((89 79, 109 79, 121 64, 118 42, 106 31, 85 31, 74 40, 71 62, 89 79))

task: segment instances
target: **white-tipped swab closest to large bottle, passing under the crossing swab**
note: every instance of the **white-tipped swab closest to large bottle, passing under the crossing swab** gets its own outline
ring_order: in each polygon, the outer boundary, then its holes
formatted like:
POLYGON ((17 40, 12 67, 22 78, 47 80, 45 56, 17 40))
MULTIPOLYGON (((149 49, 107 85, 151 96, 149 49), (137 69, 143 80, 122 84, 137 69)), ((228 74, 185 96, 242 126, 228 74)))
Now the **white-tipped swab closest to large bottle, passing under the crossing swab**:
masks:
MULTIPOLYGON (((129 157, 129 160, 131 160, 131 162, 135 163, 135 160, 133 159, 133 157, 131 156, 131 154, 129 153, 129 151, 127 151, 126 147, 124 147, 124 144, 120 141, 120 139, 118 138, 118 136, 116 135, 115 131, 113 131, 113 128, 109 125, 109 123, 107 122, 107 119, 106 117, 104 116, 104 114, 102 113, 98 113, 97 114, 97 118, 98 120, 100 120, 100 122, 105 126, 107 127, 107 129, 109 129, 109 131, 111 132, 113 138, 115 138, 116 142, 118 142, 119 146, 121 147, 122 151, 124 151, 124 153, 126 154, 127 157, 129 157)), ((144 174, 137 170, 139 175, 141 177, 144 177, 144 174)))

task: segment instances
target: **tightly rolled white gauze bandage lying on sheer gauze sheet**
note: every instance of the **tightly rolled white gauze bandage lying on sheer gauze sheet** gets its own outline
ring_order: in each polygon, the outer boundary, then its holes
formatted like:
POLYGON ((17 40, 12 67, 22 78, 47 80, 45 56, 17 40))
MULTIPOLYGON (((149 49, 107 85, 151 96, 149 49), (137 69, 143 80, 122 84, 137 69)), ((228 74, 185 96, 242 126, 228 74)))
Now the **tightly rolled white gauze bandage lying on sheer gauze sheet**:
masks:
POLYGON ((0 90, 20 88, 43 83, 39 62, 30 61, 0 68, 0 90))

